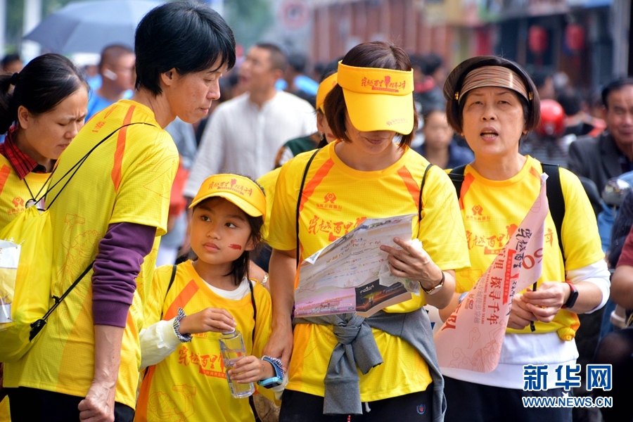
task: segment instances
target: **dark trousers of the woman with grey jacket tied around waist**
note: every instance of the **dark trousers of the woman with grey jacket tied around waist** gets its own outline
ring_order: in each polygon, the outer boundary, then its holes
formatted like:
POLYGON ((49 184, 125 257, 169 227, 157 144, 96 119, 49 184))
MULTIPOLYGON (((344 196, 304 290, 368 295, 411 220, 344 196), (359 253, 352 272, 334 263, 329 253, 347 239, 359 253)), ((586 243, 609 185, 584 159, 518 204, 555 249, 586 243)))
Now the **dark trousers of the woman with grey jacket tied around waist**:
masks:
POLYGON ((362 415, 324 415, 323 397, 285 390, 279 422, 430 422, 433 420, 432 392, 433 385, 429 385, 426 391, 369 402, 369 411, 363 403, 362 415))

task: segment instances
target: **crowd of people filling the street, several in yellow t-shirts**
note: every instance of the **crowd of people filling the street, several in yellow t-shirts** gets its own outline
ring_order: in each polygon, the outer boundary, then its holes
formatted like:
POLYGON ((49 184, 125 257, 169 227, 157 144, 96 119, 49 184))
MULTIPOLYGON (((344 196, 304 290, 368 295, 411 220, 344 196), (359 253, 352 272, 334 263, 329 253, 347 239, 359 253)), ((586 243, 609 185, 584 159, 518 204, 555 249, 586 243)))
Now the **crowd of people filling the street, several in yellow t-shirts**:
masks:
POLYGON ((2 364, 0 421, 632 420, 633 79, 592 115, 511 60, 447 74, 383 41, 311 78, 275 44, 237 57, 222 17, 187 2, 106 47, 96 84, 53 53, 1 65, 0 229, 46 210, 57 308, 2 364), (560 195, 542 275, 511 298, 499 363, 441 366, 428 310, 441 324, 461 306, 543 173, 560 195), (401 215, 412 239, 376 248, 418 294, 367 318, 294 314, 302 260, 401 215), (232 331, 246 352, 225 367, 232 331), (524 407, 568 395, 525 391, 525 366, 577 362, 613 365, 612 408, 524 407))

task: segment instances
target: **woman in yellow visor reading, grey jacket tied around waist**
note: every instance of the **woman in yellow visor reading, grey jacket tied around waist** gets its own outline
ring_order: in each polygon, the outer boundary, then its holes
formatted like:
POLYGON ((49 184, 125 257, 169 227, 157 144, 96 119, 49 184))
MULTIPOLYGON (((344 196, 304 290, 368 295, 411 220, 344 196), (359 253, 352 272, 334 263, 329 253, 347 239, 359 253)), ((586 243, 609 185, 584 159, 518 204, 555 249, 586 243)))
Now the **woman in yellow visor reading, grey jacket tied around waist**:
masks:
POLYGON ((443 418, 443 381, 421 308, 448 304, 454 270, 468 267, 468 250, 451 181, 439 167, 426 172, 428 161, 409 150, 417 125, 412 92, 411 63, 402 49, 384 42, 355 46, 340 62, 338 85, 324 103, 337 141, 314 158, 303 153, 281 167, 268 239, 273 332, 264 349, 281 357, 289 371, 280 421, 443 418), (415 215, 411 226, 423 250, 398 238, 394 242, 402 250, 376 248, 387 252, 392 274, 419 281, 426 293, 367 319, 318 317, 316 324, 296 324, 293 333, 298 246, 303 259, 365 218, 407 214, 415 215), (353 356, 333 364, 335 348, 350 343, 353 356))

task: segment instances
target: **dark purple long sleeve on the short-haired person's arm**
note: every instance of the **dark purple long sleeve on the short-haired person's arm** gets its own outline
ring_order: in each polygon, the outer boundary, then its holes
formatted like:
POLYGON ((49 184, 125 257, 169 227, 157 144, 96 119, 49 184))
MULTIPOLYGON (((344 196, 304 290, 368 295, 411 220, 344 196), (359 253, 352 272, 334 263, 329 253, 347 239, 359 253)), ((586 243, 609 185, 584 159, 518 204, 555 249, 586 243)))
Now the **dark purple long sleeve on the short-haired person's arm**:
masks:
POLYGON ((110 224, 99 242, 92 274, 95 325, 125 327, 136 276, 151 252, 156 228, 135 223, 110 224))

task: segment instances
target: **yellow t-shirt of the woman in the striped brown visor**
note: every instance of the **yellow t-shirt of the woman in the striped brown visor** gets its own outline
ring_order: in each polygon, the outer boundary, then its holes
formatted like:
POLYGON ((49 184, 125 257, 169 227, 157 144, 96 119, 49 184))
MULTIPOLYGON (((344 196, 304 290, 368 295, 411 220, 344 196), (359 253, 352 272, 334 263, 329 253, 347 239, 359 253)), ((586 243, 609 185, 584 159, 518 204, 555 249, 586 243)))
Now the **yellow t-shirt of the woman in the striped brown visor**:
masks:
MULTIPOLYGON (((466 166, 459 202, 466 227, 471 269, 457 272, 458 293, 471 290, 523 221, 539 194, 541 174, 541 163, 530 156, 516 176, 504 181, 484 179, 473 167, 466 166)), ((556 227, 548 214, 539 285, 543 281, 563 282, 565 269, 579 269, 604 258, 596 217, 580 180, 565 169, 561 169, 560 174, 565 198, 563 248, 567 258, 563 264, 556 227)), ((532 261, 525 260, 523 264, 531 265, 532 261)), ((561 309, 549 324, 536 321, 535 333, 558 331, 563 340, 571 340, 578 326, 578 316, 561 309)), ((523 330, 508 328, 506 331, 532 332, 529 326, 523 330)))

